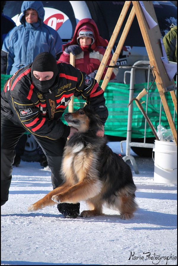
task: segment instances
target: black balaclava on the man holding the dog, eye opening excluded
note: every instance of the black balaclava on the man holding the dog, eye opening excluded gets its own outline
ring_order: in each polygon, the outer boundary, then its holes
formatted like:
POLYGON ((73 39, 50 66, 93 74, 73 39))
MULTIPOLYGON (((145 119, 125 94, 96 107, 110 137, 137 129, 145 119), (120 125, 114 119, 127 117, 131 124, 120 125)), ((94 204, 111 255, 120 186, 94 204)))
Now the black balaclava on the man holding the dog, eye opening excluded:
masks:
POLYGON ((37 89, 42 92, 48 92, 48 89, 55 83, 55 79, 58 75, 58 67, 54 56, 48 52, 39 53, 31 66, 31 78, 37 89), (34 75, 33 71, 46 72, 52 71, 53 77, 50 80, 39 81, 34 75))

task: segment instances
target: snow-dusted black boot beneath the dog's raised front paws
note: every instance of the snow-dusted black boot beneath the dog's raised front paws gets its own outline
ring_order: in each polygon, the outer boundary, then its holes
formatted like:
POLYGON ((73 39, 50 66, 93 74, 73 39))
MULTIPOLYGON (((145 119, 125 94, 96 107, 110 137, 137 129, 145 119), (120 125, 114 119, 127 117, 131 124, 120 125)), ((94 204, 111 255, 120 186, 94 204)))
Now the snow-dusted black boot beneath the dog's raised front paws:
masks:
POLYGON ((80 203, 60 203, 57 205, 58 211, 65 218, 77 218, 80 213, 80 203))

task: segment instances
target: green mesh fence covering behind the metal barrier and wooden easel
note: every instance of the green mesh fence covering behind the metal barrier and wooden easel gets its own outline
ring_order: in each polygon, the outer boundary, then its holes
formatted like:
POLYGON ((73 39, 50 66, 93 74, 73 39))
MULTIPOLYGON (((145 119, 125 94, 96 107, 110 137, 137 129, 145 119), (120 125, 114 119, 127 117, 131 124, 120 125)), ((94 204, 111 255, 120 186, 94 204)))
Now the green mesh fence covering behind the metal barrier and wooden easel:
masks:
MULTIPOLYGON (((10 75, 1 75, 1 89, 4 86, 5 81, 10 77, 10 75)), ((99 83, 101 86, 102 82, 99 83)), ((149 86, 151 83, 149 84, 149 86)), ((109 116, 104 126, 105 134, 117 137, 127 136, 127 121, 128 121, 128 103, 129 103, 129 88, 130 84, 122 83, 108 83, 106 90, 104 92, 104 97, 106 99, 106 106, 109 110, 109 116)), ((134 86, 134 98, 138 94, 147 88, 147 83, 135 84, 134 86)), ((160 124, 166 129, 169 129, 169 122, 166 117, 166 113, 161 104, 160 95, 156 84, 153 83, 152 87, 149 90, 148 94, 148 105, 147 105, 147 115, 150 118, 153 126, 157 130, 157 126, 160 124), (160 109, 161 106, 161 109, 160 109), (161 114, 160 114, 161 111, 161 114)), ((168 106, 174 118, 174 104, 169 92, 165 93, 168 106)), ((147 95, 143 96, 140 102, 142 103, 144 111, 146 112, 146 99, 147 95)), ((85 101, 81 98, 74 98, 74 111, 83 107, 85 101)), ((68 107, 65 110, 65 113, 68 112, 68 107)), ((177 128, 177 115, 175 115, 175 125, 177 128)), ((62 117, 62 121, 66 124, 66 121, 62 117)), ((146 137, 155 137, 148 123, 146 124, 146 137)), ((143 138, 145 129, 145 118, 142 115, 141 110, 137 107, 135 101, 133 101, 133 114, 132 114, 132 138, 143 138)))

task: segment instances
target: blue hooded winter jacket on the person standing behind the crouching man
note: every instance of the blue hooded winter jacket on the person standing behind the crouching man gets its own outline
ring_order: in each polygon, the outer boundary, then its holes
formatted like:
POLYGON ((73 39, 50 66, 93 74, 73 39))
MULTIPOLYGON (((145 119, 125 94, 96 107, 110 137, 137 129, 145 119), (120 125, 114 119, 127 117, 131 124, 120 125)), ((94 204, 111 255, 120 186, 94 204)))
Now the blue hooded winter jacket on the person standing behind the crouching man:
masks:
POLYGON ((13 75, 27 66, 42 52, 49 52, 59 58, 62 40, 57 31, 43 23, 45 10, 41 1, 23 1, 20 16, 21 25, 13 28, 4 39, 1 50, 1 74, 13 75), (27 23, 25 11, 35 9, 37 23, 27 23))

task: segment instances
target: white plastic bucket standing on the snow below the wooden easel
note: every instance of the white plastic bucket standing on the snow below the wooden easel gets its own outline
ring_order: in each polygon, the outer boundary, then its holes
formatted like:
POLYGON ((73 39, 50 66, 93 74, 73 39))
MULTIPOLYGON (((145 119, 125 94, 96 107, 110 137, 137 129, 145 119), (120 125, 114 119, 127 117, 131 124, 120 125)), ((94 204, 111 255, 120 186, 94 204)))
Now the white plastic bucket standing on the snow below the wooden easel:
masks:
POLYGON ((175 142, 155 140, 154 182, 177 184, 177 146, 175 142))

